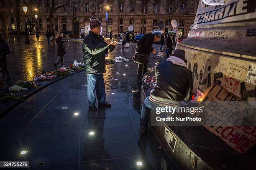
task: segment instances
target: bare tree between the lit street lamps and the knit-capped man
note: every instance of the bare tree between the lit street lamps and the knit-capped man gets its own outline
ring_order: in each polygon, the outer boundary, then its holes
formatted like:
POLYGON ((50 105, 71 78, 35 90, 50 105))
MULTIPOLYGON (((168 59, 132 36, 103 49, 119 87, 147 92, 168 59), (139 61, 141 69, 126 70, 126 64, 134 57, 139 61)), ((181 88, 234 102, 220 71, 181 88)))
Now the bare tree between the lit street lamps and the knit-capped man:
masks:
POLYGON ((54 28, 54 12, 61 7, 69 5, 70 0, 67 0, 67 3, 63 5, 56 5, 57 2, 58 0, 46 0, 46 7, 49 8, 50 12, 50 30, 54 28))

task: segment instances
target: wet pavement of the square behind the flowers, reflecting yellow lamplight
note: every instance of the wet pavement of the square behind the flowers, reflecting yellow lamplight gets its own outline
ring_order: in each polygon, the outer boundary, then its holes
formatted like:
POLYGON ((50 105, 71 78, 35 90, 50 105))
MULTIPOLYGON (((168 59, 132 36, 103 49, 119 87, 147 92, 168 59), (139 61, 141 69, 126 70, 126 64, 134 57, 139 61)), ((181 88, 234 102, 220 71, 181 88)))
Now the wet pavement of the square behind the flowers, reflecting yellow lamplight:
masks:
MULTIPOLYGON (((18 80, 30 80, 42 71, 55 70, 53 63, 58 59, 57 44, 51 42, 49 46, 44 35, 40 35, 37 40, 31 35, 31 44, 24 43, 25 37, 21 38, 21 44, 18 44, 18 39, 10 35, 11 53, 8 56, 8 68, 13 81, 12 85, 18 80)), ((65 40, 65 37, 64 37, 65 40)), ((130 42, 130 48, 122 48, 117 45, 116 49, 109 55, 108 58, 122 56, 131 58, 135 52, 136 43, 130 42)), ((69 67, 70 64, 83 62, 82 57, 82 40, 64 41, 64 46, 67 47, 67 54, 64 55, 64 65, 69 67)), ((159 48, 159 45, 156 45, 159 48)))

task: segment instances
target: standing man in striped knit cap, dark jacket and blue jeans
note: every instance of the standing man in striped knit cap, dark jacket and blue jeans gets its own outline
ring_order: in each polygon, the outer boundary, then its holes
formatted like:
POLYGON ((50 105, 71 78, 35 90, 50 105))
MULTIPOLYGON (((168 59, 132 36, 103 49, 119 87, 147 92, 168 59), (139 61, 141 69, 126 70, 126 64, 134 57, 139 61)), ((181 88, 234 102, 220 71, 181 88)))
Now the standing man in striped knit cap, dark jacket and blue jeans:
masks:
POLYGON ((95 106, 96 91, 99 106, 111 107, 106 102, 105 84, 103 73, 106 72, 105 54, 112 52, 115 49, 116 41, 111 39, 104 40, 100 35, 102 24, 95 16, 90 19, 89 34, 84 37, 83 41, 83 58, 84 70, 87 74, 87 98, 90 110, 97 110, 95 106))

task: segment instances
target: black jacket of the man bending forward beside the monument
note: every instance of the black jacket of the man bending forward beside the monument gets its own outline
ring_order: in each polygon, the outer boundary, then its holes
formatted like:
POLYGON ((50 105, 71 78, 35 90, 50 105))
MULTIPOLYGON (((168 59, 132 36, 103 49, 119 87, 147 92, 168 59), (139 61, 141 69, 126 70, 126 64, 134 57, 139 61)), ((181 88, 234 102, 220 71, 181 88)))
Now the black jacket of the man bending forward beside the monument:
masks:
POLYGON ((154 48, 152 47, 154 43, 154 37, 155 35, 151 33, 148 33, 141 37, 136 45, 136 53, 148 54, 149 52, 152 52, 152 50, 154 50, 154 48))

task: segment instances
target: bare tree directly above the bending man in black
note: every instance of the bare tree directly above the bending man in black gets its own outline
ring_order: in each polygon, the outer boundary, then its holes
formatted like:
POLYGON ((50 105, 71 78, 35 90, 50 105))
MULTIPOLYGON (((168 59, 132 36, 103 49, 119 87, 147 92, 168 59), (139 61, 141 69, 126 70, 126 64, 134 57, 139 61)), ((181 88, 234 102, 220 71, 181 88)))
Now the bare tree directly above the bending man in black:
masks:
MULTIPOLYGON (((146 15, 151 14, 154 9, 154 3, 151 0, 137 0, 134 4, 135 13, 141 18, 141 25, 144 25, 146 20, 146 15)), ((142 33, 142 30, 141 30, 142 33)))

